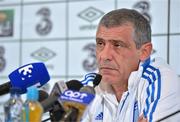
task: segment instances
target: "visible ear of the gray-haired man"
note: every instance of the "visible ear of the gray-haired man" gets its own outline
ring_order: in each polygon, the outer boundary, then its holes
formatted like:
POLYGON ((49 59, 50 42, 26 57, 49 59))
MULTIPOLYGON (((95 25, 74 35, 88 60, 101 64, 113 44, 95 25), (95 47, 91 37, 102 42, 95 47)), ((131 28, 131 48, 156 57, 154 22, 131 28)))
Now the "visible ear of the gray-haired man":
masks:
POLYGON ((141 46, 140 48, 140 60, 145 61, 147 58, 150 57, 152 52, 152 43, 148 42, 141 46))

